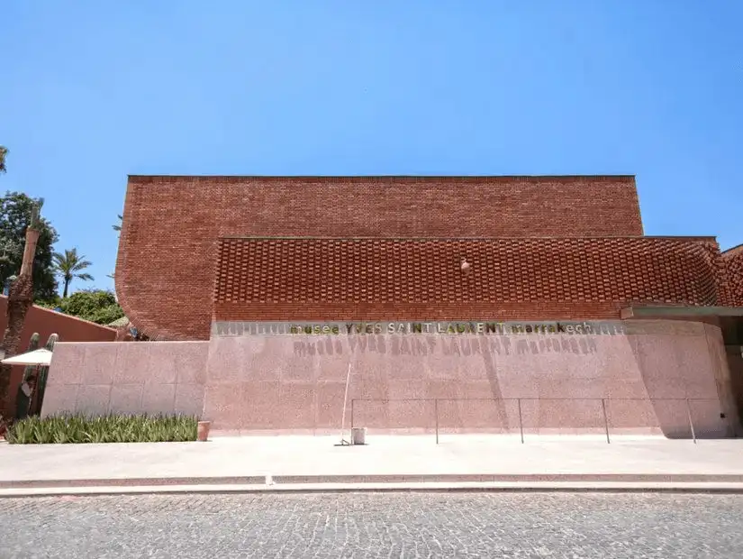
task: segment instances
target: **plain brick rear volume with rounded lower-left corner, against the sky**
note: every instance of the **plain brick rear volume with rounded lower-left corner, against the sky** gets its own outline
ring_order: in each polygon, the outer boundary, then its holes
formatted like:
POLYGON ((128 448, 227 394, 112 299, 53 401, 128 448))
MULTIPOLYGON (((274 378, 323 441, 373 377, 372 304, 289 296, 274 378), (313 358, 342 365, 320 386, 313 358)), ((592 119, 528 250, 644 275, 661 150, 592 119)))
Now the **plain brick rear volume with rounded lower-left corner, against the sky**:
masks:
POLYGON ((140 330, 206 339, 225 235, 641 234, 632 177, 131 177, 116 289, 140 330))

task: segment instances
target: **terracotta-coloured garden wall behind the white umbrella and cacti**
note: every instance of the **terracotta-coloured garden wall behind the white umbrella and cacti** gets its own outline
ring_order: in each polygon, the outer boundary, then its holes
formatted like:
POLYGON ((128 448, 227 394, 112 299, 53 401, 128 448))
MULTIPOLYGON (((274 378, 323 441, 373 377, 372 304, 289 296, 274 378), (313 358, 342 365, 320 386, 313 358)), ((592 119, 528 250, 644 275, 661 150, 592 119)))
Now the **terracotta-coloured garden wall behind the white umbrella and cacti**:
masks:
MULTIPOLYGON (((5 296, 0 296, 0 332, 5 332, 7 302, 8 299, 5 296)), ((31 307, 29 309, 23 326, 18 353, 26 351, 29 340, 34 333, 39 334, 40 347, 47 343, 51 334, 59 334, 59 339, 64 342, 106 342, 112 341, 116 336, 116 331, 113 328, 81 320, 75 316, 63 315, 42 307, 31 307)), ((23 367, 14 367, 8 392, 10 396, 8 409, 5 410, 5 413, 15 409, 15 396, 22 378, 23 367)))

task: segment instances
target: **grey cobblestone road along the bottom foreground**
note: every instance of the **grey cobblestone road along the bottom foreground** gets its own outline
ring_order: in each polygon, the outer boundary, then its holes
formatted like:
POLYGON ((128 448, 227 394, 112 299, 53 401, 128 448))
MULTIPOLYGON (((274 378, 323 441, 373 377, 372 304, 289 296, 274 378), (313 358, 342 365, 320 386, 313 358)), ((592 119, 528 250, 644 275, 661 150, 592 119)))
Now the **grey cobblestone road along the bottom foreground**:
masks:
POLYGON ((0 499, 5 557, 743 557, 743 496, 341 493, 0 499))

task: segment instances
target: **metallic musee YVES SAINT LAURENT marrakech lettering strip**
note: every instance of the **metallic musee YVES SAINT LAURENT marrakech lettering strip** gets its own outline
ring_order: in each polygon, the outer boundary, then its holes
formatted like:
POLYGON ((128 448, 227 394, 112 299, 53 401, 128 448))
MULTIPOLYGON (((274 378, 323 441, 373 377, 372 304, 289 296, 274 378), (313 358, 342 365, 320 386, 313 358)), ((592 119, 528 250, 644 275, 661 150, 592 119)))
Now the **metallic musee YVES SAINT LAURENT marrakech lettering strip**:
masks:
POLYGON ((218 322, 217 335, 523 335, 624 334, 621 321, 602 322, 218 322))

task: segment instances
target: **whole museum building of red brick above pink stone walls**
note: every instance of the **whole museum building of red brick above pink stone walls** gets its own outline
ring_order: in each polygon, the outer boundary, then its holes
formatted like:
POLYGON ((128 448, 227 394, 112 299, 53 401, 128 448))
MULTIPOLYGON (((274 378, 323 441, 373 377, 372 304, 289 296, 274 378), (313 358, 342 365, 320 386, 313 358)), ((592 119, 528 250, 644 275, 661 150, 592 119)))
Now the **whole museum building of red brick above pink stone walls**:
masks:
POLYGON ((743 247, 646 236, 632 176, 131 176, 122 215, 151 341, 59 344, 44 413, 738 432, 743 247))

